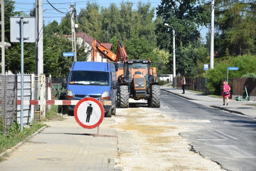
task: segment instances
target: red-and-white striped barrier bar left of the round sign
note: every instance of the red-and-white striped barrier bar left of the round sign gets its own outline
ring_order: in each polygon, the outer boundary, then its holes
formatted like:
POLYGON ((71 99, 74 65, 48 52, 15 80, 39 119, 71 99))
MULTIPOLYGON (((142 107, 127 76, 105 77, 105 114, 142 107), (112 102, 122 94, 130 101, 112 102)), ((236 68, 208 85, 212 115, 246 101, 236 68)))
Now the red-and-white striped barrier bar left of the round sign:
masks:
MULTIPOLYGON (((23 100, 23 105, 76 105, 79 100, 23 100)), ((17 100, 20 105, 21 100, 17 100)))

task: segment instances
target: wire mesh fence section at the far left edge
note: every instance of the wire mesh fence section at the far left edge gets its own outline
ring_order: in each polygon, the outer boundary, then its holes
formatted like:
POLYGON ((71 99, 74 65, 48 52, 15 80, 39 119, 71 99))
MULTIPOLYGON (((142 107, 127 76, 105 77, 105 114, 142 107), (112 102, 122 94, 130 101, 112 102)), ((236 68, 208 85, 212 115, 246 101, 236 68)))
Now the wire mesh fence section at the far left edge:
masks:
POLYGON ((4 134, 8 127, 17 121, 17 76, 0 76, 0 124, 4 125, 4 134))

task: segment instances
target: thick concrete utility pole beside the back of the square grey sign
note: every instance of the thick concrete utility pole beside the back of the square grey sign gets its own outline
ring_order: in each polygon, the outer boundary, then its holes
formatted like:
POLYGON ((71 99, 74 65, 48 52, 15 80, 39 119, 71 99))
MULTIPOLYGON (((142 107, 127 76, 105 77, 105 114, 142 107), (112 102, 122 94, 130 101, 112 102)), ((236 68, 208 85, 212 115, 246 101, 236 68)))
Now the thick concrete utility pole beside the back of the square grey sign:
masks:
POLYGON ((36 76, 44 74, 43 0, 36 0, 36 76))

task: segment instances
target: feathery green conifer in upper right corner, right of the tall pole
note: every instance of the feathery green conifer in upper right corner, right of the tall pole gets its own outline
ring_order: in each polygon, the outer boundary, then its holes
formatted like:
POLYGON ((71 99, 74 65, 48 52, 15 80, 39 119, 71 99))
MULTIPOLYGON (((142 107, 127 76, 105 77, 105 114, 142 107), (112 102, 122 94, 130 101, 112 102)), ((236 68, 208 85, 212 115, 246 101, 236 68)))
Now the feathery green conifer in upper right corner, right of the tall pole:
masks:
POLYGON ((220 0, 216 3, 218 53, 241 56, 256 50, 255 0, 220 0))

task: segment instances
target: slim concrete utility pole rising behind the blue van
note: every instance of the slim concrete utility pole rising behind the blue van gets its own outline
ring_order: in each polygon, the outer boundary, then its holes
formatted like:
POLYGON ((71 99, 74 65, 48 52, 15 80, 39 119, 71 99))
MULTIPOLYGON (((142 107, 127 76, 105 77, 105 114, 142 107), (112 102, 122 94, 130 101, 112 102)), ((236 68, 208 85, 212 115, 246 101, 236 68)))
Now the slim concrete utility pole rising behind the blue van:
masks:
POLYGON ((75 30, 76 9, 74 8, 73 4, 70 5, 70 11, 71 11, 72 51, 74 52, 73 62, 75 62, 76 61, 76 30, 75 30))

